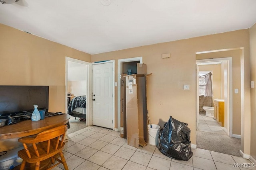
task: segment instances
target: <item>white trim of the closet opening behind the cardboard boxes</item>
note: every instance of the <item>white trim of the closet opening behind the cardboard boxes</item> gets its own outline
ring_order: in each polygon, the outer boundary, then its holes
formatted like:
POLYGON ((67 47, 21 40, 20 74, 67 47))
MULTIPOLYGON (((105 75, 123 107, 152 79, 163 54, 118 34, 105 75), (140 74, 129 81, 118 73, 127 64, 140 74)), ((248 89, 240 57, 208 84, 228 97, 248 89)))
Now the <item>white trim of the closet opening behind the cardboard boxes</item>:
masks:
POLYGON ((142 57, 134 57, 134 58, 128 58, 128 59, 119 59, 118 60, 118 87, 117 87, 117 106, 118 106, 118 129, 116 129, 117 131, 120 131, 120 119, 121 119, 121 112, 120 112, 120 100, 121 100, 121 72, 122 72, 122 63, 126 63, 126 62, 132 62, 132 61, 140 61, 140 63, 142 62, 142 57))

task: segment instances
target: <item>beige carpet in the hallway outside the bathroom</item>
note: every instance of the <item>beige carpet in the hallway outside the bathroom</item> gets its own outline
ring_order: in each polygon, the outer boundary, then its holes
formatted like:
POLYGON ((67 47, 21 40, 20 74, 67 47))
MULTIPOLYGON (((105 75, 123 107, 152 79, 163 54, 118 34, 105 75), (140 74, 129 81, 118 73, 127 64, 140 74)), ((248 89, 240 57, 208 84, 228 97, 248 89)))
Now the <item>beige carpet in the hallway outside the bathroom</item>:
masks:
POLYGON ((196 131, 196 147, 234 156, 240 155, 241 139, 228 135, 196 131))

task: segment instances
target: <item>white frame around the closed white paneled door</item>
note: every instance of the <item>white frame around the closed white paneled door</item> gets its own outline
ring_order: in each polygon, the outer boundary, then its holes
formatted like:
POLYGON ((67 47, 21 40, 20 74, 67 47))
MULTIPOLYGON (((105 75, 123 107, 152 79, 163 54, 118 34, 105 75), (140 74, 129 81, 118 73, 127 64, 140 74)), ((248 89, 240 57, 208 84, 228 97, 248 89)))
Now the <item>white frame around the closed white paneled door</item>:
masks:
MULTIPOLYGON (((105 63, 112 63, 113 64, 113 130, 114 127, 115 127, 115 122, 116 122, 116 119, 115 119, 115 60, 108 60, 108 61, 98 61, 98 62, 94 62, 92 63, 92 67, 91 67, 91 73, 93 74, 93 65, 96 65, 96 64, 105 64, 105 63)), ((91 89, 93 89, 93 75, 91 76, 91 89)), ((92 90, 90 91, 90 101, 92 101, 92 90)), ((91 114, 90 114, 90 122, 91 122, 91 125, 93 124, 92 122, 92 118, 93 118, 93 106, 92 106, 92 102, 91 103, 91 114)))

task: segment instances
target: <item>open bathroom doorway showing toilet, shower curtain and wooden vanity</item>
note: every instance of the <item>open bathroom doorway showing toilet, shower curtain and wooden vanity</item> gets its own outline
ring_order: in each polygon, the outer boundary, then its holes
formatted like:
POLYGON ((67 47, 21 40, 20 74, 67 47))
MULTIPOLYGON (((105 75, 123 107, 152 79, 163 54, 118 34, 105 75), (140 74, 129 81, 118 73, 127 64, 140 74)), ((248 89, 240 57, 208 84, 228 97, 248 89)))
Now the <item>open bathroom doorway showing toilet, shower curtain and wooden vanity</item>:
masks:
MULTIPOLYGON (((219 133, 232 136, 232 96, 228 90, 232 89, 232 80, 229 74, 229 67, 232 70, 232 65, 228 64, 225 59, 219 61, 199 60, 196 62, 198 66, 198 102, 199 102, 199 118, 202 116, 205 120, 214 120, 216 126, 202 127, 202 122, 207 124, 207 121, 201 120, 198 122, 200 130, 219 133), (231 81, 231 82, 230 82, 231 81), (230 87, 231 86, 231 87, 230 87), (218 114, 217 114, 218 112, 218 114), (228 131, 230 129, 230 131, 228 131)), ((232 59, 230 59, 232 61, 232 59)), ((197 115, 198 116, 198 115, 197 115)))

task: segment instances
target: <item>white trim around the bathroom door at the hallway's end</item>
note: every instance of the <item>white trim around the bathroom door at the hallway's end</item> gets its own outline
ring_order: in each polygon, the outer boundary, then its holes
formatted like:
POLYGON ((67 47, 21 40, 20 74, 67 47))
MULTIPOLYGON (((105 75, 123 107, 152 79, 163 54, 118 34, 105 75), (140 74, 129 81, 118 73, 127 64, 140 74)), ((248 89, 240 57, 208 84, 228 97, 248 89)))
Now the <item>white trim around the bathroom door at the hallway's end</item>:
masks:
MULTIPOLYGON (((227 108, 228 108, 228 136, 232 137, 233 135, 233 93, 232 93, 232 57, 225 57, 225 58, 214 58, 214 59, 203 59, 203 60, 196 60, 196 63, 202 62, 210 62, 210 61, 228 61, 228 87, 225 87, 225 101, 228 101, 227 108)), ((226 103, 226 102, 225 102, 226 103)), ((226 104, 225 104, 226 107, 226 104)))

